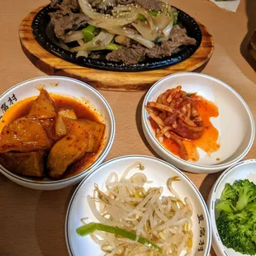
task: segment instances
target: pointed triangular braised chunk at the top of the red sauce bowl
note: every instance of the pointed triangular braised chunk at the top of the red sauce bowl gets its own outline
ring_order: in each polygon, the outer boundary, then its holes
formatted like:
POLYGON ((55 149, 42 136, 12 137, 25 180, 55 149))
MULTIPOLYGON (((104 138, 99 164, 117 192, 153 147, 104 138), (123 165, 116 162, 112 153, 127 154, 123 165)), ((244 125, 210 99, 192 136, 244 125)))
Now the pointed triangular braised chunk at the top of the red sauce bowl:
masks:
POLYGON ((40 120, 55 118, 57 116, 54 101, 45 89, 40 90, 40 95, 32 103, 28 116, 33 116, 40 120))

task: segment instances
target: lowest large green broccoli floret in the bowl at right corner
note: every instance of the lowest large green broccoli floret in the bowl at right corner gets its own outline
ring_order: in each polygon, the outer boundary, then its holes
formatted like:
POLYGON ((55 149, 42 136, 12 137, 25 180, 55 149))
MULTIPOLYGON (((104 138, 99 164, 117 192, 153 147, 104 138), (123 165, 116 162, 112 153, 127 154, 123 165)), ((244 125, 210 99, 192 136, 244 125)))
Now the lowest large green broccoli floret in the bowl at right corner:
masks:
MULTIPOLYGON (((220 235, 222 243, 227 248, 232 248, 236 252, 241 254, 256 254, 255 238, 252 239, 252 235, 255 234, 253 229, 248 230, 247 225, 242 224, 243 221, 239 221, 239 218, 230 220, 230 216, 233 213, 227 213, 220 211, 220 215, 216 220, 217 229, 220 235)), ((244 213, 244 216, 246 214, 244 213)))

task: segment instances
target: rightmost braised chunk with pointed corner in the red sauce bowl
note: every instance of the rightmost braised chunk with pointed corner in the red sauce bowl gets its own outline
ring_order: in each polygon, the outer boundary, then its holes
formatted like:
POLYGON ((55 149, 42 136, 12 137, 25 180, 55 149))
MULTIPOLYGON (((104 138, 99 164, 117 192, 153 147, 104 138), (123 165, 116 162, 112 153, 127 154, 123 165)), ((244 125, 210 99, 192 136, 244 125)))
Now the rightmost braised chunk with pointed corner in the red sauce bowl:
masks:
POLYGON ((68 134, 75 134, 79 140, 85 142, 85 151, 96 153, 100 147, 102 136, 104 135, 105 125, 99 124, 88 119, 73 120, 64 117, 64 123, 68 134))

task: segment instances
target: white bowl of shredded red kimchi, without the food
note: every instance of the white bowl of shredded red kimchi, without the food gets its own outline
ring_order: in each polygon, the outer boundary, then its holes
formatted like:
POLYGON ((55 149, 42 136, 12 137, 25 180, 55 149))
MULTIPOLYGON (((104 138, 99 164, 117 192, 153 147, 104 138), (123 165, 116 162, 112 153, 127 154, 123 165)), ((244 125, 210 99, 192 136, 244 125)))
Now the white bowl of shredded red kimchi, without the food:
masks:
POLYGON ((176 73, 155 83, 143 102, 142 127, 149 145, 161 158, 191 173, 216 173, 237 163, 249 152, 255 133, 253 116, 243 98, 227 84, 202 73, 176 73), (144 107, 147 102, 156 101, 162 92, 178 85, 186 92, 197 92, 214 102, 219 110, 219 116, 211 118, 211 122, 219 131, 220 149, 210 157, 200 149, 197 162, 180 159, 159 143, 144 107))

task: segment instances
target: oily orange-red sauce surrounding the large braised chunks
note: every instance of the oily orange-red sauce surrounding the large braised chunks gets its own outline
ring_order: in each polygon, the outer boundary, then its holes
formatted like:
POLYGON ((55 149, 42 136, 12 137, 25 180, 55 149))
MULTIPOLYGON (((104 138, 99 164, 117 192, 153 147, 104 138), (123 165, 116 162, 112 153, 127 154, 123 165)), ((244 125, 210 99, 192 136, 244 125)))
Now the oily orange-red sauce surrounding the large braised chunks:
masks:
MULTIPOLYGON (((2 131, 2 128, 7 124, 17 120, 21 116, 26 116, 31 110, 31 104, 34 100, 36 100, 36 97, 28 97, 24 100, 21 100, 15 103, 14 105, 12 105, 12 107, 8 108, 8 110, 2 116, 2 120, 0 121, 0 132, 2 131)), ((50 93, 50 97, 55 101, 55 108, 57 111, 59 111, 59 109, 61 108, 73 109, 78 119, 86 118, 92 121, 101 122, 97 116, 97 112, 85 106, 83 102, 79 102, 78 99, 75 99, 72 97, 64 97, 64 96, 60 96, 52 93, 50 93)), ((104 141, 104 138, 102 139, 102 144, 100 145, 98 152, 102 149, 104 145, 103 141, 104 141)), ((85 154, 82 159, 80 159, 76 164, 73 164, 73 166, 71 166, 66 170, 66 172, 64 173, 61 179, 69 178, 75 174, 81 173, 85 168, 88 168, 90 165, 94 163, 95 159, 97 158, 97 153, 85 154)), ((27 178, 30 178, 30 177, 27 177, 27 178)), ((51 180, 48 177, 31 178, 31 179, 36 181, 51 180)))

